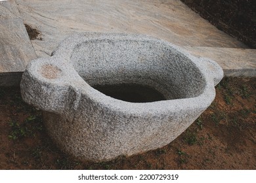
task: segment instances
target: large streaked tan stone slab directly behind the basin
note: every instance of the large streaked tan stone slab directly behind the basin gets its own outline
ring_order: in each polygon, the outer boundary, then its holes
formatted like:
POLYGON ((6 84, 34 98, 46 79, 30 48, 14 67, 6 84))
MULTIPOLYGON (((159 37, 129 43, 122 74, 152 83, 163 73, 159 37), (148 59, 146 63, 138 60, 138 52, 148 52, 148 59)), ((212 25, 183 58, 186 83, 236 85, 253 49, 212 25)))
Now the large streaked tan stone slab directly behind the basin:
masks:
POLYGON ((85 31, 144 34, 179 46, 247 48, 179 0, 16 2, 24 22, 41 31, 43 41, 32 41, 39 57, 51 55, 74 32, 85 31))

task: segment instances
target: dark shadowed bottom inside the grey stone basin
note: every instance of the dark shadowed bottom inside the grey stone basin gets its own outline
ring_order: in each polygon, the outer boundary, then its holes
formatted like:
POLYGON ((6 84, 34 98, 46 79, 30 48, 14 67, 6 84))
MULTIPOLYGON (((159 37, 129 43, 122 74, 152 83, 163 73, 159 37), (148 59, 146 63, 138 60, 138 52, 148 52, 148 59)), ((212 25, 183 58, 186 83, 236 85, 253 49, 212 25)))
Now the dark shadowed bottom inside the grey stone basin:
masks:
POLYGON ((165 97, 154 88, 140 84, 106 84, 96 85, 93 88, 115 99, 131 103, 149 103, 165 100, 165 97))

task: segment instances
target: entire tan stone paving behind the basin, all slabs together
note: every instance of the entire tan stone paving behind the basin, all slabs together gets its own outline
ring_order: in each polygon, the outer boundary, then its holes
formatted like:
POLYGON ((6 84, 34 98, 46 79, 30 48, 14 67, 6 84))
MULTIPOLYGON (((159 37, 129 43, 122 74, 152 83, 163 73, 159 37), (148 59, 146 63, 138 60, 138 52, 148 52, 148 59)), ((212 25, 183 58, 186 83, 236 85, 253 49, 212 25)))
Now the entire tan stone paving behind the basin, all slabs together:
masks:
POLYGON ((50 56, 68 35, 84 31, 151 35, 214 59, 225 75, 255 75, 255 50, 240 49, 247 46, 216 29, 179 0, 11 0, 0 2, 0 86, 14 84, 30 60, 36 58, 35 52, 37 57, 50 56), (22 19, 41 31, 42 41, 33 40, 31 44, 22 19), (239 50, 233 52, 233 48, 239 50))

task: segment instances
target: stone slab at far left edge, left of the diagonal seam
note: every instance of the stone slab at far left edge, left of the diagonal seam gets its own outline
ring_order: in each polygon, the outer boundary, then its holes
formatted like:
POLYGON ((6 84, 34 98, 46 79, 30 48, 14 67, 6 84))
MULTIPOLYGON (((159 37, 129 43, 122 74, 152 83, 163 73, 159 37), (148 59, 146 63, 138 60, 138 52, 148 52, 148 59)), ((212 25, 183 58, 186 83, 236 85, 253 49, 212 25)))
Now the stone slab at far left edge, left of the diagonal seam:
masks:
POLYGON ((0 86, 17 84, 18 72, 37 58, 15 1, 0 1, 0 55, 0 86))

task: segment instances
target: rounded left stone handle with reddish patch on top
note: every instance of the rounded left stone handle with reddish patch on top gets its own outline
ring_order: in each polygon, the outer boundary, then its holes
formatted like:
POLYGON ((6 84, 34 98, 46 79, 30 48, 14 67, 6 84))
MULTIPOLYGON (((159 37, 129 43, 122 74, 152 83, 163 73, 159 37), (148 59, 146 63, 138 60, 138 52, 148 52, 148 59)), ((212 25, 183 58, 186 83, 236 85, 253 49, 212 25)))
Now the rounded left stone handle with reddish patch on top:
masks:
POLYGON ((26 103, 41 110, 61 113, 65 108, 69 86, 65 71, 49 59, 35 59, 22 75, 20 91, 26 103))

